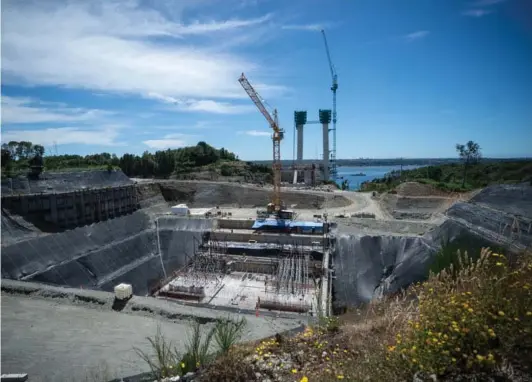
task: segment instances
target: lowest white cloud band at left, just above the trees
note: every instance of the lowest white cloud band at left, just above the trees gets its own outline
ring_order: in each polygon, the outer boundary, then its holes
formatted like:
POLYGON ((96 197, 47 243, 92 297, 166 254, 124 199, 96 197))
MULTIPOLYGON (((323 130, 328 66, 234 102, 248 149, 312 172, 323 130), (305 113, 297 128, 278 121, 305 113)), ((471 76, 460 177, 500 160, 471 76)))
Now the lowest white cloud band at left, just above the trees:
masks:
POLYGON ((79 127, 56 127, 40 130, 2 131, 2 142, 29 141, 43 146, 82 144, 100 146, 120 146, 117 142, 119 126, 110 125, 97 129, 79 127))

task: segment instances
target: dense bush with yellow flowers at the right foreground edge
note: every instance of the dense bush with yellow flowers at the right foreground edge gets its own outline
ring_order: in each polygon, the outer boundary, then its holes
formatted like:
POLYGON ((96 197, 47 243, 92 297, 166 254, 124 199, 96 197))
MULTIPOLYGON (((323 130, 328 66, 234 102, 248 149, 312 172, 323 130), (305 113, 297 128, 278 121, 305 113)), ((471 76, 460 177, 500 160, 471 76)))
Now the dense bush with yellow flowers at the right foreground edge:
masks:
POLYGON ((509 264, 483 249, 452 267, 412 287, 418 312, 388 345, 388 359, 436 375, 532 364, 531 257, 509 264))

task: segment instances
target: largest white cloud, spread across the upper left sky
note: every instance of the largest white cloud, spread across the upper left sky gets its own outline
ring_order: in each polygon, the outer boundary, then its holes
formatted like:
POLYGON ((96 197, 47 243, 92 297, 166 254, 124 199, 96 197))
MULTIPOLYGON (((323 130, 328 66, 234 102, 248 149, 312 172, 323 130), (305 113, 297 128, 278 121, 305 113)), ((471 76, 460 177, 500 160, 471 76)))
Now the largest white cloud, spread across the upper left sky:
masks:
POLYGON ((3 81, 140 96, 245 98, 237 78, 258 66, 211 48, 270 17, 183 23, 140 0, 4 1, 3 81))

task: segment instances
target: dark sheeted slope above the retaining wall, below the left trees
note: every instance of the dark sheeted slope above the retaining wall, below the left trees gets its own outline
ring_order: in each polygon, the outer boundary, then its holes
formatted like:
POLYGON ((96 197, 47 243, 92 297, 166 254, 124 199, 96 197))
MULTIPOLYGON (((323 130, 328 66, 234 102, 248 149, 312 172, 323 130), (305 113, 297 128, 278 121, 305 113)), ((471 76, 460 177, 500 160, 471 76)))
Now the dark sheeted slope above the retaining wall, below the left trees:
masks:
POLYGON ((2 194, 35 194, 117 187, 133 184, 120 170, 44 172, 38 179, 19 176, 2 180, 2 194))

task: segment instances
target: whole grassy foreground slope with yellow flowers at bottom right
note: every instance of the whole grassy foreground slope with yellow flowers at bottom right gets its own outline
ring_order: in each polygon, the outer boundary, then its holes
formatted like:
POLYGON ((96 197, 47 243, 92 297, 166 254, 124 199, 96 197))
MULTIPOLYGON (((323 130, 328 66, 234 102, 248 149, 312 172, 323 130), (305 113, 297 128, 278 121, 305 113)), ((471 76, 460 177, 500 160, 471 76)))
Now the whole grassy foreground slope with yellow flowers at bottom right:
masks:
MULTIPOLYGON (((464 239, 465 240, 465 239, 464 239)), ((294 337, 220 353, 201 381, 517 381, 532 376, 532 254, 450 255, 425 282, 294 337), (260 374, 257 379, 256 374, 260 374)))

